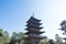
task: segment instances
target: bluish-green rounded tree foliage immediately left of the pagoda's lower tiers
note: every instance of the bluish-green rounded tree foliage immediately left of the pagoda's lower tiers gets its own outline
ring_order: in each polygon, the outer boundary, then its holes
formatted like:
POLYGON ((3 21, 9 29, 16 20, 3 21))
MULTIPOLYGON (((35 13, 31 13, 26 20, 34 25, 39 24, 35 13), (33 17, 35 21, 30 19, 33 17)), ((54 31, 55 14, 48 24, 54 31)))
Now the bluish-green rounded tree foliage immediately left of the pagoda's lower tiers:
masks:
POLYGON ((16 43, 16 42, 20 42, 24 37, 25 37, 24 33, 22 33, 22 32, 20 32, 20 33, 13 32, 12 36, 11 36, 11 41, 13 41, 14 43, 16 43))

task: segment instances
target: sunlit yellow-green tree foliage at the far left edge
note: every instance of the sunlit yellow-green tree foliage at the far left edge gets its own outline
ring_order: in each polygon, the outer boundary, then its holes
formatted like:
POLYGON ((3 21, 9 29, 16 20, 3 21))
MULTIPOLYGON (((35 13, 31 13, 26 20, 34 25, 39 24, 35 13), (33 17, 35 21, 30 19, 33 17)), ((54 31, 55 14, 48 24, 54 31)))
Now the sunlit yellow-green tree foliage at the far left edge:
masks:
POLYGON ((0 44, 8 44, 9 43, 9 33, 7 31, 3 31, 2 29, 0 29, 0 33, 2 34, 2 36, 0 36, 0 44))

